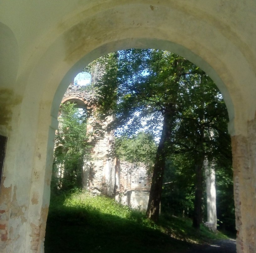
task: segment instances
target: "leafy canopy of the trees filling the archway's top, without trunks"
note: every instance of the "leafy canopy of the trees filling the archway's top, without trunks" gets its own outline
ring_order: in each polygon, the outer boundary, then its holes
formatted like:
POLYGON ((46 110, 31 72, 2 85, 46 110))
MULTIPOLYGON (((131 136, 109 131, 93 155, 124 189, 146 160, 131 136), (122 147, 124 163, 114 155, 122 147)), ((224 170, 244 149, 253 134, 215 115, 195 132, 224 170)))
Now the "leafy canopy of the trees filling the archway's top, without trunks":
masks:
POLYGON ((116 116, 109 127, 122 127, 128 137, 141 129, 160 137, 168 115, 165 148, 169 154, 230 158, 225 103, 197 66, 154 49, 123 50, 95 62, 105 63, 105 72, 95 85, 102 117, 116 116))

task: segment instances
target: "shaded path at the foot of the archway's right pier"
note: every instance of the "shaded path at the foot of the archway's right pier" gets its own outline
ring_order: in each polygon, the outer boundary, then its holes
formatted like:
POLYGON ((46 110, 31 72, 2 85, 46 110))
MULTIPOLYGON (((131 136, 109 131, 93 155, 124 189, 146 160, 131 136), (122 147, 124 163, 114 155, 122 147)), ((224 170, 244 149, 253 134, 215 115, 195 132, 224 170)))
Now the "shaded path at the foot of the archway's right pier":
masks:
POLYGON ((185 253, 236 253, 236 240, 220 240, 211 245, 196 245, 185 253))

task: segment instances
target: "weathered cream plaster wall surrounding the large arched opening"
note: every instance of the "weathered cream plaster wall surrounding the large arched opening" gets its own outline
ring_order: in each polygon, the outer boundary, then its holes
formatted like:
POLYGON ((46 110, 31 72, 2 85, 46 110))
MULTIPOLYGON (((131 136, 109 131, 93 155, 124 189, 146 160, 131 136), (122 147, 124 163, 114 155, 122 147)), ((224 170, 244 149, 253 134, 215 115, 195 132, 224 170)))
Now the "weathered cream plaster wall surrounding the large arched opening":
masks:
POLYGON ((2 1, 0 252, 44 251, 57 114, 67 84, 97 57, 172 51, 205 70, 230 117, 237 252, 255 248, 256 2, 254 0, 2 1))

